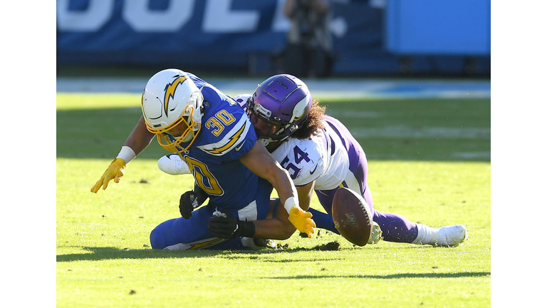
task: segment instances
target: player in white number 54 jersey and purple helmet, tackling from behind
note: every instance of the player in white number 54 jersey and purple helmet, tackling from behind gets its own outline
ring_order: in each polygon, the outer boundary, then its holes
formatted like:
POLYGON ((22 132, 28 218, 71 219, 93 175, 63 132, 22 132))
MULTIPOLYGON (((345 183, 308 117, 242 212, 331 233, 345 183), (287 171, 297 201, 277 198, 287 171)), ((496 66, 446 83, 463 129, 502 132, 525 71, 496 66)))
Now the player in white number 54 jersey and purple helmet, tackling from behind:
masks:
MULTIPOLYGON (((375 226, 369 243, 383 236, 389 242, 454 247, 467 239, 467 227, 452 225, 433 228, 411 222, 401 215, 379 212, 367 184, 365 151, 339 120, 324 114, 300 79, 276 75, 266 79, 251 95, 234 98, 246 108, 258 138, 293 179, 301 207, 313 213, 317 227, 338 233, 332 212, 333 197, 340 187, 360 193, 373 212, 375 226), (328 214, 309 208, 313 191, 328 214)), ((167 173, 174 170, 167 158, 158 162, 167 173)), ((286 237, 294 227, 286 225, 286 237)), ((292 230, 292 232, 291 232, 292 230)))

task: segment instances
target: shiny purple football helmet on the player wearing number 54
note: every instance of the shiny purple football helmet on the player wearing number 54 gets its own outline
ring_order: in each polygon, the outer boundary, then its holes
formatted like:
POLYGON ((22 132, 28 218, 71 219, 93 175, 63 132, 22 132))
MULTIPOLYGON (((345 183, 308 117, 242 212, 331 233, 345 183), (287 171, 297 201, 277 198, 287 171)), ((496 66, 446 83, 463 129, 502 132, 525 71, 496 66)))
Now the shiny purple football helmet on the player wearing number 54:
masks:
POLYGON ((271 76, 247 100, 247 115, 259 140, 283 141, 308 118, 312 104, 306 83, 288 74, 271 76))

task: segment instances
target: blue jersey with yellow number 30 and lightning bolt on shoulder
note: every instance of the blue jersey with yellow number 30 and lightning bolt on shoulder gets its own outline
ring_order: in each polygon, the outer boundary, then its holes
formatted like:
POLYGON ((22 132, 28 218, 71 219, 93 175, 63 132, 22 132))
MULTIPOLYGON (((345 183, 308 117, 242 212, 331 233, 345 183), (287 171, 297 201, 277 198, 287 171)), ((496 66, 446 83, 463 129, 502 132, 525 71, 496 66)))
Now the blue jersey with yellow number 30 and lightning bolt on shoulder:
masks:
POLYGON ((209 195, 209 204, 237 210, 257 197, 269 200, 271 184, 239 161, 257 140, 245 111, 211 84, 191 73, 188 75, 202 91, 204 114, 202 128, 182 158, 197 185, 209 195))

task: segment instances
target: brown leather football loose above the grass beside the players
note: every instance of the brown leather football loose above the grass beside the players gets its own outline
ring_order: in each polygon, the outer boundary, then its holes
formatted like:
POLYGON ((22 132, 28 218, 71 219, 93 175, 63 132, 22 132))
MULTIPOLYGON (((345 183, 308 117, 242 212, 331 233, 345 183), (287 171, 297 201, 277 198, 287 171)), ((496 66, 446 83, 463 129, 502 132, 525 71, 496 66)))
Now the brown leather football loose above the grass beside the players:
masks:
POLYGON ((333 221, 346 240, 367 245, 373 232, 373 215, 361 195, 348 188, 338 188, 333 200, 333 221))

